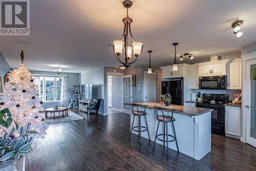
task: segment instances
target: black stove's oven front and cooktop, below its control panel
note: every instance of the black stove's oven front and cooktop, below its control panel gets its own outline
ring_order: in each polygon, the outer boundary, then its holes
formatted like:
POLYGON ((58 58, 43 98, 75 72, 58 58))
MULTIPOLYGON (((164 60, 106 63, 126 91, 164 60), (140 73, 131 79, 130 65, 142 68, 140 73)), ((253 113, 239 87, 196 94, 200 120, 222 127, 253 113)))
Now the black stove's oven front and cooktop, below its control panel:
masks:
POLYGON ((211 111, 211 133, 225 135, 224 106, 216 104, 196 103, 199 108, 213 109, 211 111))

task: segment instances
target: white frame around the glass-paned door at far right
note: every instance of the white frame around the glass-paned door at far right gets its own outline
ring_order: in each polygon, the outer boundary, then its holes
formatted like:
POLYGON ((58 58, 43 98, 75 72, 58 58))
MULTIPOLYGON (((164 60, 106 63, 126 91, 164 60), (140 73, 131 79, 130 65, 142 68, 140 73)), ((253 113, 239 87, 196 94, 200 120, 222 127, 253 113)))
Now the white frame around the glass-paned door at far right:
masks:
MULTIPOLYGON (((241 56, 242 57, 242 61, 243 61, 243 65, 242 65, 242 75, 246 75, 246 73, 247 73, 247 68, 246 68, 246 62, 247 61, 251 61, 251 60, 253 60, 253 59, 256 59, 256 51, 255 52, 252 52, 252 53, 248 53, 248 54, 245 54, 245 55, 242 55, 241 56)), ((249 135, 249 133, 250 133, 250 130, 249 130, 249 132, 247 131, 247 124, 246 124, 246 122, 247 122, 247 119, 249 118, 250 119, 250 114, 248 114, 248 113, 246 113, 246 109, 247 108, 245 108, 245 105, 247 105, 247 103, 248 103, 248 100, 247 100, 247 98, 246 98, 246 94, 247 94, 247 92, 246 92, 246 82, 247 82, 248 80, 247 80, 247 78, 246 78, 246 76, 244 76, 244 77, 242 77, 242 106, 241 106, 241 111, 242 111, 242 120, 241 120, 241 133, 242 133, 242 135, 241 135, 241 141, 242 142, 245 142, 245 143, 247 143, 247 139, 248 139, 248 135, 249 135)), ((250 91, 250 90, 249 90, 250 91)), ((249 97, 250 98, 250 97, 249 97)), ((249 100, 250 101, 250 100, 249 100)), ((249 104, 250 105, 250 104, 249 104)))

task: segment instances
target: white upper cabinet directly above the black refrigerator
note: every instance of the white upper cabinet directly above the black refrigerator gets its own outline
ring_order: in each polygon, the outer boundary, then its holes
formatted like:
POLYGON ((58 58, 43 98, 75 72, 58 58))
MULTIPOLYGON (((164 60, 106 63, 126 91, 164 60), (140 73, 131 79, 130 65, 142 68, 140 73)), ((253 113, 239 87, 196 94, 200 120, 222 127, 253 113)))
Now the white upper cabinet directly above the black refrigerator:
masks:
POLYGON ((173 66, 165 66, 160 67, 162 69, 163 78, 178 78, 183 77, 185 74, 185 70, 187 70, 189 65, 187 64, 179 64, 178 71, 173 71, 173 66))

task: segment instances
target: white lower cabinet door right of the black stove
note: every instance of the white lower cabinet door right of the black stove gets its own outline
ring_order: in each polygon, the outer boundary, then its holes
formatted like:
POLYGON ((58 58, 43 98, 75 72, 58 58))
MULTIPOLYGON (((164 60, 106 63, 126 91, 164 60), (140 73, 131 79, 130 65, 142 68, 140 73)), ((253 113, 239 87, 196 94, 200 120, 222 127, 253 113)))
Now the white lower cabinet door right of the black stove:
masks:
POLYGON ((241 108, 225 106, 225 133, 241 136, 241 108))

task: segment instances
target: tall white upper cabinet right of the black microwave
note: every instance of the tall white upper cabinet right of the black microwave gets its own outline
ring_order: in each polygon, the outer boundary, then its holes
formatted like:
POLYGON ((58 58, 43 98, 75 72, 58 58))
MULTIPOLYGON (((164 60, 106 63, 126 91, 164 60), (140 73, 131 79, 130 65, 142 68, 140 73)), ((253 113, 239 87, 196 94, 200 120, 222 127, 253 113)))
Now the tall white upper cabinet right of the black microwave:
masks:
POLYGON ((234 59, 229 63, 229 89, 242 89, 242 59, 234 59))

